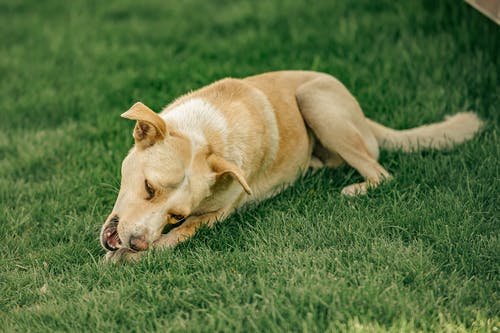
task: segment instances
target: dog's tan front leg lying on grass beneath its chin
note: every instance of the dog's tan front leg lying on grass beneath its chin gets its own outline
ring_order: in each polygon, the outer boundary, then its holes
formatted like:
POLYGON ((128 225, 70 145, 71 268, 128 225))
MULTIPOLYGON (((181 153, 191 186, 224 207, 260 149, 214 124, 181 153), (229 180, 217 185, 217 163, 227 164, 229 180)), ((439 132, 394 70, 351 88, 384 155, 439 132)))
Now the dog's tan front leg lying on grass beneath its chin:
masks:
POLYGON ((191 216, 181 224, 179 227, 170 230, 167 234, 162 235, 153 244, 155 248, 174 248, 179 243, 182 243, 189 238, 191 238, 195 233, 196 229, 202 225, 208 225, 211 227, 215 221, 222 219, 226 216, 224 211, 217 211, 213 213, 207 213, 200 216, 191 216))

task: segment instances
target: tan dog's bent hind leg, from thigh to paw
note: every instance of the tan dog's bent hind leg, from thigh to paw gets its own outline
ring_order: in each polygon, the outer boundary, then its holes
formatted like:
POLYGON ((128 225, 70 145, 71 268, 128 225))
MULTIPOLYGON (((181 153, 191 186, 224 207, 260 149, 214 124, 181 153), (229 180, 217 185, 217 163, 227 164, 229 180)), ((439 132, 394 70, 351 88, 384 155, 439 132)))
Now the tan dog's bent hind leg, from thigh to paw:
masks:
POLYGON ((343 194, 364 194, 368 187, 390 178, 377 162, 378 143, 359 104, 338 80, 321 76, 300 86, 296 96, 304 120, 321 145, 366 179, 345 187, 343 194))

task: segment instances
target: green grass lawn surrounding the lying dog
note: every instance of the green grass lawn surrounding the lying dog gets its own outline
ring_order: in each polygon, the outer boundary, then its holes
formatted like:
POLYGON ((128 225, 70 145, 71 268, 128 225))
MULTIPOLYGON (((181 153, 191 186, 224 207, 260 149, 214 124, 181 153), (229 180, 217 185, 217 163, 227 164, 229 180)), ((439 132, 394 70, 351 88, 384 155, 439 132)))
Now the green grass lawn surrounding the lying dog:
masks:
POLYGON ((0 2, 0 331, 498 331, 500 28, 462 1, 0 2), (139 4, 140 3, 140 4, 139 4), (308 174, 173 251, 100 263, 142 100, 337 76, 403 128, 472 109, 451 151, 383 153, 347 199, 308 174))

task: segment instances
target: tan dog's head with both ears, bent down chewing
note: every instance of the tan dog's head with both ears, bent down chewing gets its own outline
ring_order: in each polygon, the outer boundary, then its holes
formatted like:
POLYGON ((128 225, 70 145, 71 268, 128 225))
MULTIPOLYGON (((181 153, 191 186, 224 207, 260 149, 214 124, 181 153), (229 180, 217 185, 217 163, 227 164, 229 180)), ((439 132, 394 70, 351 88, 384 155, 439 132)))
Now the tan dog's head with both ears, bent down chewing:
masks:
POLYGON ((144 104, 136 103, 122 117, 137 121, 135 145, 122 163, 118 198, 101 230, 104 248, 147 250, 167 224, 199 213, 222 175, 231 175, 250 193, 236 165, 208 144, 193 145, 144 104))

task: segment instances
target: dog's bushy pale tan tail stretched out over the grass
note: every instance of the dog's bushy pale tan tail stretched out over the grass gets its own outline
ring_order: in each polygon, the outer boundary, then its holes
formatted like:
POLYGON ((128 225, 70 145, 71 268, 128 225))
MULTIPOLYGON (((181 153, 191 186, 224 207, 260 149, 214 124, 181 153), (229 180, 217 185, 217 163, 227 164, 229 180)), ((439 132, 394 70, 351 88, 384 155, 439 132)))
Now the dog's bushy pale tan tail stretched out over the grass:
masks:
POLYGON ((394 130, 367 120, 380 147, 405 152, 425 148, 451 148, 457 143, 471 139, 483 126, 483 122, 474 112, 458 113, 446 117, 442 122, 407 130, 394 130))

